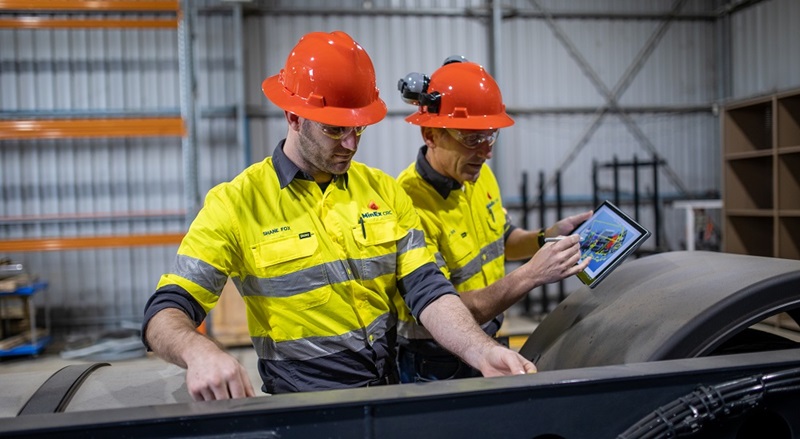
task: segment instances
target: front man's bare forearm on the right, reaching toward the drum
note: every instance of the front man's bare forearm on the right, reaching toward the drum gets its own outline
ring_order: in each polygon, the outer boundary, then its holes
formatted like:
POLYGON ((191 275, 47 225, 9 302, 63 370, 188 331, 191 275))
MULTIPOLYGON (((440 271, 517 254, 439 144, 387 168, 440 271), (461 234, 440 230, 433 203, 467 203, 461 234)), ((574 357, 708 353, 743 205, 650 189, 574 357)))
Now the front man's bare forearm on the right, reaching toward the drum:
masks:
POLYGON ((420 314, 420 321, 442 347, 477 369, 484 353, 498 345, 452 294, 428 305, 420 314))

